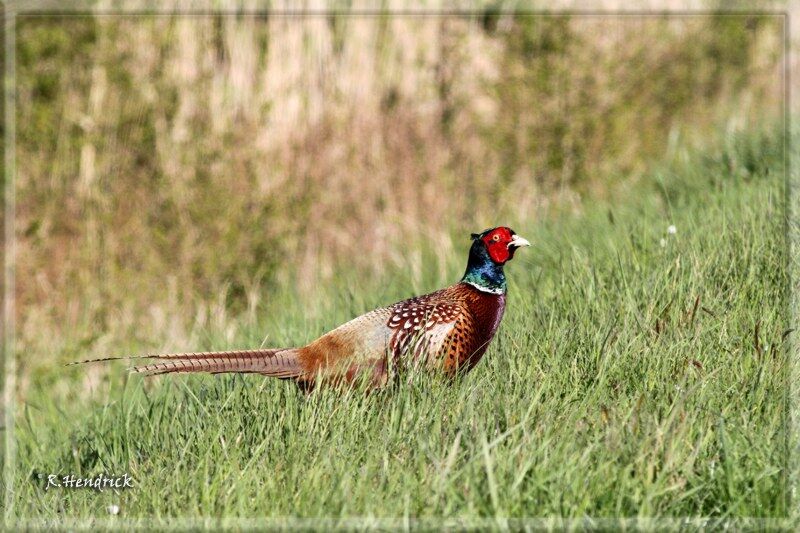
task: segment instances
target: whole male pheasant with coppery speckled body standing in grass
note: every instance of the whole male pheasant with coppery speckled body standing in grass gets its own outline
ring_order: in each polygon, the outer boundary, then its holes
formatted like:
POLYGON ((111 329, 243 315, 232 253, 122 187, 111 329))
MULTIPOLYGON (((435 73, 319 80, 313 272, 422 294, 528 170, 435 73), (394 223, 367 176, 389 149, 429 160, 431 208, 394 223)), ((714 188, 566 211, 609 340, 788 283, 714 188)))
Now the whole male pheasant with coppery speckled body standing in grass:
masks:
MULTIPOLYGON (((254 373, 318 383, 383 387, 390 369, 423 367, 454 375, 469 371, 489 346, 506 306, 503 266, 530 243, 511 228, 472 234, 461 281, 356 317, 301 348, 145 355, 158 362, 134 366, 145 375, 173 372, 254 373)), ((121 358, 97 359, 107 361, 121 358)), ((82 361, 82 362, 94 362, 82 361)))

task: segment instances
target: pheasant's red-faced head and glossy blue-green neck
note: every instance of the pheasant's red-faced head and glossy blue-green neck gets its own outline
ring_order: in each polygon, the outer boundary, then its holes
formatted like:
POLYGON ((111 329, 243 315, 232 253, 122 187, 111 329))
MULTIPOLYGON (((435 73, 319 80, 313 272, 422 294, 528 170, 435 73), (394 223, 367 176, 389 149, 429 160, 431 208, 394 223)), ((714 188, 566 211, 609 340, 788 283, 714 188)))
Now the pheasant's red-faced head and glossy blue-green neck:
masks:
POLYGON ((505 226, 472 234, 467 271, 461 281, 483 292, 506 292, 503 265, 514 258, 514 252, 531 243, 505 226))

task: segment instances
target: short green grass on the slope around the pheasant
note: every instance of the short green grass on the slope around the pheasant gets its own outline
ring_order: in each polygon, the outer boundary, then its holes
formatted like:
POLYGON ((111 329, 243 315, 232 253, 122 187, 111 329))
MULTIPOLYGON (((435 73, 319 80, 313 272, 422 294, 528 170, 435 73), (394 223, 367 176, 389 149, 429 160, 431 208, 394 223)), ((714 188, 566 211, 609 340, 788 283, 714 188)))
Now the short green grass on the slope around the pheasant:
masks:
MULTIPOLYGON (((114 366, 56 404, 54 381, 88 370, 54 367, 18 405, 13 516, 107 518, 112 503, 116 520, 785 516, 782 158, 774 136, 731 138, 612 203, 515 224, 534 246, 507 267, 496 340, 454 384, 304 396, 257 376, 145 381, 114 366), (137 488, 44 491, 39 478, 100 472, 137 488)), ((267 332, 300 344, 456 280, 466 236, 443 269, 431 243, 417 253, 424 240, 407 254, 419 278, 343 271, 310 311, 279 291, 235 339, 194 348, 267 332)))

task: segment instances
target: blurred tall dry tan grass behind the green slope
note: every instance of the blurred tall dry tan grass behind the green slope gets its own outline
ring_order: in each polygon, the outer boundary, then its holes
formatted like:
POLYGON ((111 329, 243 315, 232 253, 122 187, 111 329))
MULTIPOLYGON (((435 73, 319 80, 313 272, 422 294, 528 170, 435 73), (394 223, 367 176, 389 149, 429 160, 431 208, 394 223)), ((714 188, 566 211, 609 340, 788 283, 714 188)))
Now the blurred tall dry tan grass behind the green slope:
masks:
POLYGON ((777 115, 782 24, 21 18, 20 349, 178 346, 343 268, 444 274, 453 234, 579 209, 777 115))

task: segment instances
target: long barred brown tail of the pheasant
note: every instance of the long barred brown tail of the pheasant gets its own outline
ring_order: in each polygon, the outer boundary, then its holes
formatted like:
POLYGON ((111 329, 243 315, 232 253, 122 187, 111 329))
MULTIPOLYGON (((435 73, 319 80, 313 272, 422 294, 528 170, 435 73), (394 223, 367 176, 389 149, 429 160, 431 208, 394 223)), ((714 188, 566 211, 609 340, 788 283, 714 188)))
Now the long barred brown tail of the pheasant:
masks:
POLYGON ((132 372, 154 376, 173 372, 255 373, 281 379, 296 378, 304 369, 294 349, 231 350, 225 352, 186 352, 149 354, 131 357, 104 357, 69 363, 70 365, 119 361, 129 359, 155 359, 158 363, 133 366, 132 372))

